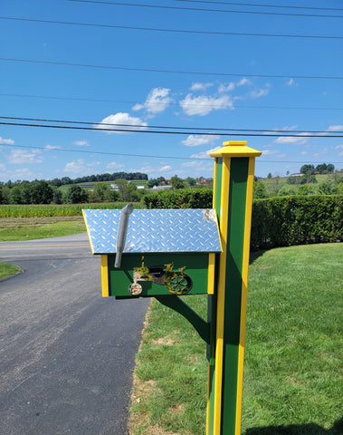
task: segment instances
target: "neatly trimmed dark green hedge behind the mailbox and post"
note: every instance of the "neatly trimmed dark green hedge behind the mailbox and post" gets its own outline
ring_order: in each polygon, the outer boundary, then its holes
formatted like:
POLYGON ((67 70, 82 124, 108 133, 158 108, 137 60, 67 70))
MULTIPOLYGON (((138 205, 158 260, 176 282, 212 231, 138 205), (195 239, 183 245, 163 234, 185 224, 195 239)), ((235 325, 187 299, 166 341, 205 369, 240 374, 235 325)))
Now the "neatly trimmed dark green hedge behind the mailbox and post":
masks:
MULTIPOLYGON (((160 191, 142 200, 146 208, 212 208, 212 190, 160 191)), ((341 241, 342 223, 341 195, 255 199, 252 204, 251 248, 341 241)))

